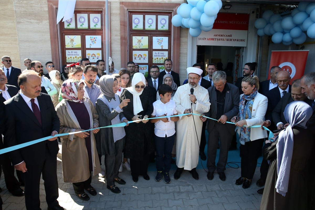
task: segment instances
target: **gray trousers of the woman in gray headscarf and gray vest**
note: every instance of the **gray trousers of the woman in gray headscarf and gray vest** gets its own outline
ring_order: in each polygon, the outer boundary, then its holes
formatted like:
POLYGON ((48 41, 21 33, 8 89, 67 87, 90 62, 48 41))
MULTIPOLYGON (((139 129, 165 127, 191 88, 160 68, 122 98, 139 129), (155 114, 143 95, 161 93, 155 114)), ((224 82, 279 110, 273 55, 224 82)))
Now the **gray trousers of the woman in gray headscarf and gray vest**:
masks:
POLYGON ((105 157, 106 181, 108 186, 114 185, 114 179, 118 178, 118 170, 121 165, 123 156, 123 141, 125 137, 115 142, 116 155, 108 155, 105 157))

